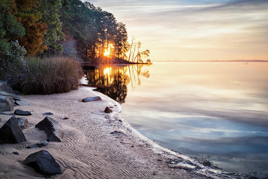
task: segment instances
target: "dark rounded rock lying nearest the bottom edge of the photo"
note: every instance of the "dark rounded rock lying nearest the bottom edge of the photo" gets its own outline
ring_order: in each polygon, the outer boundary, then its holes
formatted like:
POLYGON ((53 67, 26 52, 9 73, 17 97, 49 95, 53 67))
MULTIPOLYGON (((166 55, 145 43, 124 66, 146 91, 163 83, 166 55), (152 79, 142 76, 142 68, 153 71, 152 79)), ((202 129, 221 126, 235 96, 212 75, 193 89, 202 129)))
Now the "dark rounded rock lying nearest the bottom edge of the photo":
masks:
POLYGON ((23 162, 35 169, 36 172, 42 175, 56 175, 63 174, 65 169, 61 166, 54 157, 46 150, 40 150, 30 154, 23 162))

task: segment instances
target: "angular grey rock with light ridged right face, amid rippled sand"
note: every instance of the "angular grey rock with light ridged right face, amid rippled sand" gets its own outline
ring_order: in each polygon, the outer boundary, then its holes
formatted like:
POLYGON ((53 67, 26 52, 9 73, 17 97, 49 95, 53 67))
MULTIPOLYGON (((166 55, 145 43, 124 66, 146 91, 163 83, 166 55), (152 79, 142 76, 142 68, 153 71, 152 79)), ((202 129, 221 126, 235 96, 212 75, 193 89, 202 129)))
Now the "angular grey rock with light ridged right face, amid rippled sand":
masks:
POLYGON ((62 126, 53 118, 46 116, 42 121, 35 125, 40 130, 44 130, 47 141, 61 142, 64 134, 62 126))

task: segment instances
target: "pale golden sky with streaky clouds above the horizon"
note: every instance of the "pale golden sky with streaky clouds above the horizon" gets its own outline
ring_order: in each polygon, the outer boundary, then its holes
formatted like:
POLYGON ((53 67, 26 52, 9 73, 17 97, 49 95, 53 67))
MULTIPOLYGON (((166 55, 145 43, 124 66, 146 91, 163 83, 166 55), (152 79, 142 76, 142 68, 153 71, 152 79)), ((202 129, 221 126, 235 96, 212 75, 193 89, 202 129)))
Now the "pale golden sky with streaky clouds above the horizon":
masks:
POLYGON ((268 0, 89 0, 126 24, 148 59, 268 60, 268 0))

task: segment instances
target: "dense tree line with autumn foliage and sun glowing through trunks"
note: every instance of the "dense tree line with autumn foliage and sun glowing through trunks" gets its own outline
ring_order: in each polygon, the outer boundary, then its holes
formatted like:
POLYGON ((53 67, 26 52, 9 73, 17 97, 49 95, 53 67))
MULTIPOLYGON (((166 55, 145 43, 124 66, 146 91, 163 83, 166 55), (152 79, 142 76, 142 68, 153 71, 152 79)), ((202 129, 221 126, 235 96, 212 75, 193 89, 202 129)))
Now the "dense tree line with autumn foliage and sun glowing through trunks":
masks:
POLYGON ((91 59, 127 59, 125 24, 80 0, 1 0, 0 60, 26 54, 91 59))

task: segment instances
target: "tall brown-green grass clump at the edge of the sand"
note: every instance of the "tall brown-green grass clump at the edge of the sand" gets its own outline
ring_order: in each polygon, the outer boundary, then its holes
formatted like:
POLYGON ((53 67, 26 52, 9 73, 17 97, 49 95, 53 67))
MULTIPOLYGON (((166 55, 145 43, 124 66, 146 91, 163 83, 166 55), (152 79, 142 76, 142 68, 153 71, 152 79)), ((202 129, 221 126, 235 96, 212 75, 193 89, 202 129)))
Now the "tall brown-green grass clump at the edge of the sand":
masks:
POLYGON ((82 78, 80 62, 67 57, 28 58, 4 71, 10 86, 25 95, 70 92, 82 78))

